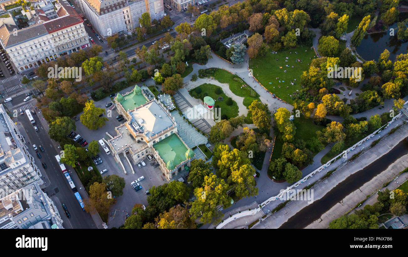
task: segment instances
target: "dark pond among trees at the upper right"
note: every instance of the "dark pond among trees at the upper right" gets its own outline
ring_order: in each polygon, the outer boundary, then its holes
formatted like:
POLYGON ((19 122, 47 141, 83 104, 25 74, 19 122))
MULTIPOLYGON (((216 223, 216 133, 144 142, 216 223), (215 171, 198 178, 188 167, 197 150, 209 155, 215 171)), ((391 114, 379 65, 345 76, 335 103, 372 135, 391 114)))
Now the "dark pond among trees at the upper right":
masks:
MULTIPOLYGON (((402 13, 401 13, 402 14, 402 13)), ((404 13, 404 16, 407 13, 404 13)), ((400 20, 401 16, 400 16, 400 20)), ((357 53, 366 61, 375 60, 378 61, 380 54, 385 49, 390 51, 390 60, 395 61, 395 57, 401 53, 406 54, 408 48, 408 42, 401 42, 397 39, 397 24, 392 24, 390 28, 393 28, 394 36, 390 35, 390 30, 387 32, 371 33, 367 34, 361 41, 361 44, 357 46, 357 53)))

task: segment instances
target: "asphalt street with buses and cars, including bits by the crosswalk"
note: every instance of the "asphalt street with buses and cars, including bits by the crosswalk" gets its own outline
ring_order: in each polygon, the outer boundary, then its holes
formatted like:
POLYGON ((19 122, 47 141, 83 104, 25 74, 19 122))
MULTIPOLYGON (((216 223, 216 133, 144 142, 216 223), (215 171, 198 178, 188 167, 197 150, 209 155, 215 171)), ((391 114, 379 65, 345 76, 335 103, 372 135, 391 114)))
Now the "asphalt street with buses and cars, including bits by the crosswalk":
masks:
MULTIPOLYGON (((13 99, 13 101, 15 100, 13 99)), ((45 130, 47 122, 45 120, 41 121, 38 117, 38 114, 33 115, 33 118, 35 119, 34 125, 38 127, 39 132, 35 132, 33 125, 30 123, 27 115, 25 114, 18 114, 17 126, 20 132, 22 132, 23 135, 25 134, 24 140, 26 142, 29 142, 29 152, 32 156, 34 156, 35 163, 44 176, 43 180, 46 185, 46 187, 44 188, 44 192, 46 192, 50 197, 52 196, 52 193, 55 193, 52 199, 55 202, 55 205, 58 207, 58 211, 60 212, 61 218, 64 221, 64 228, 97 228, 97 226, 93 222, 93 219, 91 218, 91 215, 89 215, 85 211, 82 211, 78 200, 75 198, 73 191, 69 187, 67 179, 62 174, 62 171, 60 170, 60 167, 55 160, 55 155, 60 154, 60 151, 57 148, 58 146, 55 146, 58 144, 51 141, 47 130, 45 130), (33 144, 37 146, 41 145, 42 147, 44 147, 44 152, 40 152, 42 156, 41 159, 38 159, 32 147, 33 144), (43 169, 41 163, 46 163, 47 169, 43 169), (61 206, 62 203, 67 206, 68 211, 71 213, 71 218, 68 219, 64 215, 64 211, 61 206)), ((67 166, 67 169, 70 169, 70 167, 67 166)), ((69 170, 69 173, 74 184, 78 188, 80 195, 82 196, 82 198, 84 198, 86 194, 78 176, 72 168, 71 170, 69 170)))

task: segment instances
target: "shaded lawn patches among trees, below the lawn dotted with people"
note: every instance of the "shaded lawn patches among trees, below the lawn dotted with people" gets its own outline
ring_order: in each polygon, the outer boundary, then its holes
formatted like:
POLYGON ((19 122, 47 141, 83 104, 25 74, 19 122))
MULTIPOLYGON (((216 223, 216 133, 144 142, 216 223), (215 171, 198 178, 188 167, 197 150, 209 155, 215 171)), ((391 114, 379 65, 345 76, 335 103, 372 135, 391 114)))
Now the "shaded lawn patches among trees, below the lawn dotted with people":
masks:
MULTIPOLYGON (((305 142, 307 142, 313 136, 316 136, 316 131, 322 130, 324 128, 324 126, 316 125, 315 123, 313 123, 313 119, 306 119, 304 116, 295 118, 293 120, 293 124, 295 124, 296 127, 295 140, 302 139, 305 142)), ((277 136, 275 146, 273 148, 272 160, 281 157, 283 144, 284 142, 282 141, 280 136, 277 136)), ((317 154, 317 152, 313 152, 313 154, 317 154)))

